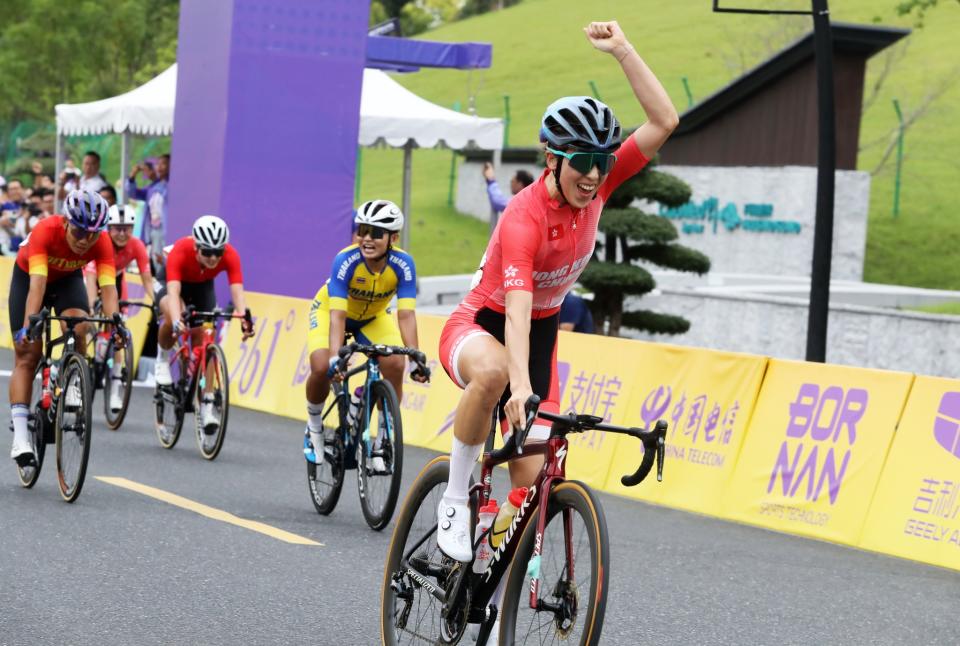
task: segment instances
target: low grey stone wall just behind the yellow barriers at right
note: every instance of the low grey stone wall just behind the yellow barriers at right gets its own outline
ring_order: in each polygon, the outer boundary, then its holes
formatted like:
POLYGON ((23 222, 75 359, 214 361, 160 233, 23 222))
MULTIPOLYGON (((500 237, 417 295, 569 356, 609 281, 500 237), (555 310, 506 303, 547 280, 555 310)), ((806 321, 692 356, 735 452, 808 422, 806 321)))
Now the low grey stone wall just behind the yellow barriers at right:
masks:
MULTIPOLYGON (((807 301, 750 294, 703 294, 664 289, 625 304, 678 314, 690 331, 678 336, 625 336, 734 352, 803 359, 807 301)), ((827 362, 960 377, 960 316, 832 304, 827 362)))

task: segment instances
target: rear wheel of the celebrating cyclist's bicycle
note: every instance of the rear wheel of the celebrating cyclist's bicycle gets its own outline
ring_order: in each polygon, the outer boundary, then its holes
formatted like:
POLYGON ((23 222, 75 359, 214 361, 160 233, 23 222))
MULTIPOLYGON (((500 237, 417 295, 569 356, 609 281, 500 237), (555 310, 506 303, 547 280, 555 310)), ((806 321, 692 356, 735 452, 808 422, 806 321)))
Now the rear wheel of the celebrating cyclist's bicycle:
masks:
POLYGON ((397 516, 380 596, 380 637, 387 646, 453 644, 466 628, 467 608, 444 619, 442 604, 424 585, 443 590, 460 567, 469 567, 447 557, 437 546, 437 506, 449 473, 450 459, 434 458, 420 471, 397 516), (414 546, 410 562, 403 562, 414 546), (429 574, 411 576, 411 566, 418 573, 429 574))

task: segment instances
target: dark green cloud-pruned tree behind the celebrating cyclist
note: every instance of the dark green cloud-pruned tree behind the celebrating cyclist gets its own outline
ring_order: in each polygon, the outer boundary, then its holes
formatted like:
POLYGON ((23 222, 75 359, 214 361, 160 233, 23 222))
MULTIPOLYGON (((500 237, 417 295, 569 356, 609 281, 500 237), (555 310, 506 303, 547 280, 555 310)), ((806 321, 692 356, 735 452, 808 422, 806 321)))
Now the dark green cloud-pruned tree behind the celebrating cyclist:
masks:
POLYGON ((652 166, 610 196, 600 218, 600 230, 606 235, 604 259, 595 254, 580 276, 580 282, 594 294, 591 310, 597 328, 602 330, 608 323, 609 336, 618 336, 621 326, 659 334, 682 334, 690 329, 689 321, 680 316, 623 311, 625 296, 642 296, 656 287, 650 272, 633 264, 634 260, 696 274, 710 270, 710 259, 704 254, 675 243, 677 229, 670 220, 630 207, 635 199, 671 207, 690 201, 690 187, 685 182, 652 166))

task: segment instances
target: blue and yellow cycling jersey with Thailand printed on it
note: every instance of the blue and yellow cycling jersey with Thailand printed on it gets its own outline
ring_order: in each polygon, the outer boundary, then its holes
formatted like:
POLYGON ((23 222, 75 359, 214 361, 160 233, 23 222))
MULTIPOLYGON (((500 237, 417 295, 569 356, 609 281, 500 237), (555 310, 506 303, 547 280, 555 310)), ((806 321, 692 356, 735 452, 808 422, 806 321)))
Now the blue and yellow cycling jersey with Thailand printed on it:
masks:
POLYGON ((383 271, 371 271, 360 247, 353 244, 333 259, 330 271, 330 309, 346 310, 347 318, 363 320, 387 309, 397 295, 398 310, 412 310, 417 299, 417 270, 413 258, 393 247, 383 271))

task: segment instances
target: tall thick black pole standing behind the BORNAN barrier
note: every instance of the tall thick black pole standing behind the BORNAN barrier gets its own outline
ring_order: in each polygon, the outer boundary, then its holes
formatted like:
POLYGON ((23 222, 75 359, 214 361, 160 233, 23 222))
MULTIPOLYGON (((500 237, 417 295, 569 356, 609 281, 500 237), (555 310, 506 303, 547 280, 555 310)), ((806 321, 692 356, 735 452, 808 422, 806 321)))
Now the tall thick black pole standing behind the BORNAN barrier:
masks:
POLYGON ((827 358, 830 263, 833 253, 833 194, 837 164, 836 106, 833 97, 833 38, 827 0, 813 1, 813 42, 817 65, 817 213, 807 320, 807 361, 827 358))

